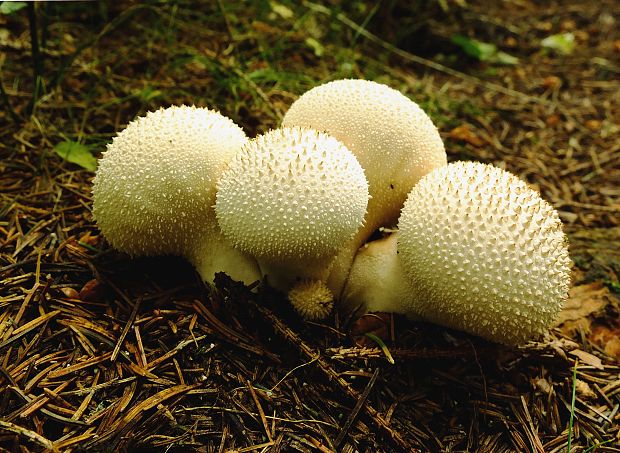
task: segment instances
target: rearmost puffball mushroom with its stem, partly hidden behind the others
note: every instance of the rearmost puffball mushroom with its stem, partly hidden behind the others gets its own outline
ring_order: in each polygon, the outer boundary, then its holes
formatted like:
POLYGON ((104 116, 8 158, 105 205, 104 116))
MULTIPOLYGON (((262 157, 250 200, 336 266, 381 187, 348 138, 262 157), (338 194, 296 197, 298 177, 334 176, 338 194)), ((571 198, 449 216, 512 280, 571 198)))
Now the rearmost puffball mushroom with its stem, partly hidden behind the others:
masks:
POLYGON ((357 157, 371 199, 365 225, 343 247, 328 285, 339 295, 357 249, 381 226, 396 223, 407 194, 432 169, 446 165, 437 128, 408 97, 368 80, 336 80, 304 93, 283 126, 305 126, 340 140, 357 157))

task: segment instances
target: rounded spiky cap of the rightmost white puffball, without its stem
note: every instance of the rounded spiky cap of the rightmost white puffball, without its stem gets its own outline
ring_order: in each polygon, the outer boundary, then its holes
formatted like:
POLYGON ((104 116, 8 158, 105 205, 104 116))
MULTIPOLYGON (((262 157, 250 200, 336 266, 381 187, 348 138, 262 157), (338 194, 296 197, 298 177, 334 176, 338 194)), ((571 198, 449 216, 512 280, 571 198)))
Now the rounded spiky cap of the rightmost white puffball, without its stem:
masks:
POLYGON ((434 170, 409 194, 399 230, 415 311, 429 321, 519 344, 544 333, 567 297, 558 214, 507 171, 475 162, 434 170))

